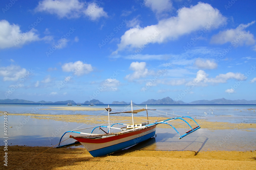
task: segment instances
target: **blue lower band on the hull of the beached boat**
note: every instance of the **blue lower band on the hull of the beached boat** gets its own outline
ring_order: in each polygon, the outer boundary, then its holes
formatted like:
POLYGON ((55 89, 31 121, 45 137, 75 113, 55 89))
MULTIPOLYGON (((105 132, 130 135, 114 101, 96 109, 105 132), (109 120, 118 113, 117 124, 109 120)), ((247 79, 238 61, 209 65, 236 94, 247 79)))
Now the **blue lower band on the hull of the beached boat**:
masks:
POLYGON ((89 153, 93 157, 107 155, 107 154, 119 151, 121 149, 127 148, 129 146, 135 145, 137 143, 143 142, 143 141, 155 136, 155 133, 156 133, 156 131, 151 132, 151 133, 149 133, 147 135, 144 135, 144 136, 137 137, 137 138, 132 139, 132 140, 128 140, 128 141, 125 141, 125 142, 122 142, 122 143, 118 143, 116 145, 112 145, 112 146, 108 146, 108 147, 105 147, 105 148, 93 150, 93 151, 90 151, 89 153))

